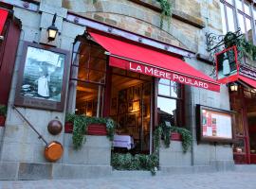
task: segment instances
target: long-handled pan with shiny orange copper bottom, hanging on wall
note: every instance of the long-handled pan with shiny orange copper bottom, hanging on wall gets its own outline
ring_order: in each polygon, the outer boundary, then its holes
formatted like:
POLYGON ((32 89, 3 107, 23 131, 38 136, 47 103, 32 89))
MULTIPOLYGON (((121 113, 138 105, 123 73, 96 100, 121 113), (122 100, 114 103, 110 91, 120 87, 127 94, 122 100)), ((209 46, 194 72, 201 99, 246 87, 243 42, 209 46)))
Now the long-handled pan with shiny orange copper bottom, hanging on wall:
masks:
POLYGON ((62 146, 62 144, 57 141, 52 141, 50 143, 47 143, 45 138, 29 123, 27 118, 21 112, 19 112, 19 110, 15 106, 12 106, 12 107, 27 122, 28 126, 37 133, 38 138, 42 139, 46 144, 46 148, 45 148, 46 160, 49 162, 56 162, 57 160, 62 158, 64 153, 64 147, 62 146))

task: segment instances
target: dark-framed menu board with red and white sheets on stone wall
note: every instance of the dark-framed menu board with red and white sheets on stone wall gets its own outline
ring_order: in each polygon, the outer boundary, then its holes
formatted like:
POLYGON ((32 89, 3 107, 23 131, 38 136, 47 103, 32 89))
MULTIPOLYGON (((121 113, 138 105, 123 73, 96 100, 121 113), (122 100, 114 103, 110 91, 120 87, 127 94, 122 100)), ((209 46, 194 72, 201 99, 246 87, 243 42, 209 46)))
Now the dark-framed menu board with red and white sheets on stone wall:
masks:
POLYGON ((197 139, 202 142, 233 142, 233 112, 197 105, 197 139))

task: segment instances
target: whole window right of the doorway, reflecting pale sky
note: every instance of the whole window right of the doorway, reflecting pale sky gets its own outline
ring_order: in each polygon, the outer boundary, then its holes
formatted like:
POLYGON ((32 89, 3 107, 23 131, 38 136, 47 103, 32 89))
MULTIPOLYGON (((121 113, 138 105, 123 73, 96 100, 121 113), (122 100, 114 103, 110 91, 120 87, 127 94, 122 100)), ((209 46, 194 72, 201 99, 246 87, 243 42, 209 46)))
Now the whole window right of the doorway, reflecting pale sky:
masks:
POLYGON ((159 79, 157 95, 159 123, 169 122, 171 126, 182 127, 183 100, 181 89, 181 85, 172 80, 159 79))

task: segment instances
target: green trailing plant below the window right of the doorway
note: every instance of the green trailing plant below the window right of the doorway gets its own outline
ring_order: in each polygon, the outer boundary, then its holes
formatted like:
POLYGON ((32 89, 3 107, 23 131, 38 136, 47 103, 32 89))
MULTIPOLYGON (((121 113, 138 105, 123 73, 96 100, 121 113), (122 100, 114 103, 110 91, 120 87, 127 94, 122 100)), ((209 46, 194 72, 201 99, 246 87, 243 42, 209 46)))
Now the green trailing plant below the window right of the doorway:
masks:
POLYGON ((192 132, 188 129, 178 128, 178 127, 168 127, 166 124, 160 124, 159 128, 162 128, 162 136, 164 139, 164 144, 169 147, 171 144, 171 133, 177 132, 182 136, 182 148, 183 152, 187 152, 189 147, 192 146, 192 132))

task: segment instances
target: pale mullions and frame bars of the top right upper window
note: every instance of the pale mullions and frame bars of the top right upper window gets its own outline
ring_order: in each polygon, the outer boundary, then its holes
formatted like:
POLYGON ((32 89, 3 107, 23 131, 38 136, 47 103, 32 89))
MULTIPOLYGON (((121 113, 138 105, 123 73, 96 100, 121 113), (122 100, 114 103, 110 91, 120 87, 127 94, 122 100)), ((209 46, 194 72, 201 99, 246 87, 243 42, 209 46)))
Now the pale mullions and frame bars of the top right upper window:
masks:
POLYGON ((242 8, 243 8, 243 10, 241 10, 241 9, 237 8, 237 2, 238 1, 240 1, 240 0, 220 0, 220 3, 222 4, 222 6, 224 8, 224 14, 225 15, 222 15, 222 16, 225 17, 225 24, 226 24, 226 26, 223 26, 223 31, 224 32, 225 32, 225 30, 230 31, 229 18, 228 18, 228 13, 227 13, 227 8, 230 8, 230 9, 233 10, 233 14, 234 14, 234 17, 233 17, 234 23, 233 23, 233 25, 234 25, 235 29, 238 29, 238 27, 239 27, 238 15, 240 14, 240 15, 243 16, 244 26, 245 26, 245 31, 246 31, 245 34, 246 34, 247 40, 248 40, 248 33, 247 33, 246 19, 250 20, 251 29, 252 29, 252 41, 253 41, 254 44, 256 44, 256 37, 255 37, 255 34, 256 34, 256 26, 255 26, 255 24, 256 24, 256 21, 255 21, 255 19, 256 19, 256 6, 255 5, 256 4, 253 3, 252 1, 241 0, 242 8), (245 4, 249 5, 250 15, 248 15, 246 13, 245 4))

